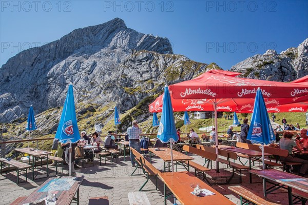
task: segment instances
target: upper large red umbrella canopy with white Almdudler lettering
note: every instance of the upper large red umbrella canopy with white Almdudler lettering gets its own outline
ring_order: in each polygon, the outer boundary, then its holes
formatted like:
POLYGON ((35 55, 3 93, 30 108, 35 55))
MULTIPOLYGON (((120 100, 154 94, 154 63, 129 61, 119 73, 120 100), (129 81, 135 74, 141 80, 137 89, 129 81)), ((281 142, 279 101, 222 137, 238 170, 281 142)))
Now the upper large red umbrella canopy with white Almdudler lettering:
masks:
POLYGON ((303 83, 281 83, 275 81, 239 78, 205 72, 202 75, 178 84, 169 90, 175 99, 205 98, 255 98, 258 87, 264 98, 294 98, 308 94, 303 83))

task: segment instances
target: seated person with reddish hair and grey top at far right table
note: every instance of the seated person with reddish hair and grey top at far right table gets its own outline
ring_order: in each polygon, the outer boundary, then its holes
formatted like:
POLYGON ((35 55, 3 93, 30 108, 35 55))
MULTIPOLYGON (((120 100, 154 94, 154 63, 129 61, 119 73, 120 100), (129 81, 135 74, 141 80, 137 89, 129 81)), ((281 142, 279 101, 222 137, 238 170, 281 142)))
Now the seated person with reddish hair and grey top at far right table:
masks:
POLYGON ((281 149, 288 151, 288 156, 286 157, 280 157, 281 161, 290 161, 290 162, 300 162, 302 163, 301 168, 299 170, 299 175, 303 176, 306 174, 308 169, 308 160, 301 159, 298 157, 295 157, 292 153, 292 149, 296 148, 299 152, 302 152, 301 149, 296 145, 295 141, 293 141, 293 133, 292 132, 285 132, 283 133, 282 139, 279 141, 279 146, 281 149))

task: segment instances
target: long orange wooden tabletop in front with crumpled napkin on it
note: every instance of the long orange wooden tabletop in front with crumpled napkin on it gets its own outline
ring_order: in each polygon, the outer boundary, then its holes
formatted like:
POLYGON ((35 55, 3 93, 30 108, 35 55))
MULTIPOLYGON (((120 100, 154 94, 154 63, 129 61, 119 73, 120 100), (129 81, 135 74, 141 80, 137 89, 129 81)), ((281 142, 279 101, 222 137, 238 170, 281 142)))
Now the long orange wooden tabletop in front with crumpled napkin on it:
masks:
POLYGON ((235 204, 224 195, 220 194, 215 189, 208 186, 204 181, 195 177, 190 172, 173 172, 159 173, 162 181, 170 189, 172 193, 177 197, 181 204, 235 204), (190 192, 194 191, 196 185, 199 185, 201 189, 207 189, 215 195, 198 197, 190 192))

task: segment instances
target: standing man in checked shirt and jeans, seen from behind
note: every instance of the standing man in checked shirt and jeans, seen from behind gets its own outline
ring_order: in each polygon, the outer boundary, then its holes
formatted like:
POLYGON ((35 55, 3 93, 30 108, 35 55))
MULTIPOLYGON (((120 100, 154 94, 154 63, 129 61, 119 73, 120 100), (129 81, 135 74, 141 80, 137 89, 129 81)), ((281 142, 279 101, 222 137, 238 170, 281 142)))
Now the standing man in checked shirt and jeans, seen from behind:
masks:
MULTIPOLYGON (((140 145, 139 145, 139 139, 140 134, 142 133, 141 129, 138 126, 138 121, 133 120, 132 126, 127 128, 127 134, 128 134, 128 140, 129 140, 129 147, 137 150, 137 152, 140 152, 140 145)), ((130 161, 131 165, 135 167, 135 161, 134 161, 134 155, 130 151, 130 161)))

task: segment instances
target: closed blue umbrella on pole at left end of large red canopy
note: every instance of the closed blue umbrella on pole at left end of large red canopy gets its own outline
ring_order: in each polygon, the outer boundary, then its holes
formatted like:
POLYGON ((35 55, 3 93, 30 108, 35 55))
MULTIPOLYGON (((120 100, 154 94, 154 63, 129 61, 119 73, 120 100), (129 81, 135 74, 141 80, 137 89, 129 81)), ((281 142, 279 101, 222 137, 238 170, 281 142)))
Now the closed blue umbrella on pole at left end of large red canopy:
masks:
MULTIPOLYGON (((164 97, 163 97, 163 110, 162 110, 161 121, 158 128, 157 138, 159 138, 164 143, 170 142, 171 165, 172 165, 172 172, 174 172, 172 144, 175 144, 175 142, 179 140, 179 136, 175 125, 175 117, 172 110, 172 104, 168 86, 165 86, 164 97)), ((174 204, 176 204, 176 199, 174 199, 174 204)))

